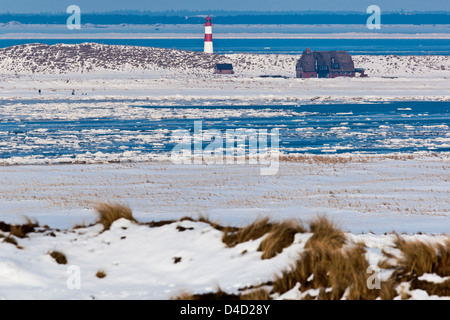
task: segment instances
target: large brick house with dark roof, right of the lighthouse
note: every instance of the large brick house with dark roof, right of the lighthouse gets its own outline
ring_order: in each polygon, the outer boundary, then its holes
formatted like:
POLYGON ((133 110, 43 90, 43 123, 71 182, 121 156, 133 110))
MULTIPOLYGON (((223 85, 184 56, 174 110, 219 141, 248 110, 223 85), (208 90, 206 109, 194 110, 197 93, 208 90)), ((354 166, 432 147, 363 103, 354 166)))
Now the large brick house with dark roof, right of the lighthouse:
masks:
POLYGON ((303 52, 296 65, 297 78, 354 77, 355 65, 347 51, 303 52))

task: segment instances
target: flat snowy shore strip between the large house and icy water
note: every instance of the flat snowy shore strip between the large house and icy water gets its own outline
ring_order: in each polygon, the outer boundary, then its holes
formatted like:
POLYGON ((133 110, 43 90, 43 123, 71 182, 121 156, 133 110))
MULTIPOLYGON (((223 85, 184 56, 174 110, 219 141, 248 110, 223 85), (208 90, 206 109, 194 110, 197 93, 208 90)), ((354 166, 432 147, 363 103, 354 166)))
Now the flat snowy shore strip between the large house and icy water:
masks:
POLYGON ((3 75, 0 78, 2 100, 32 97, 44 103, 49 99, 83 102, 90 99, 127 98, 145 100, 154 105, 267 105, 363 100, 448 101, 450 90, 447 77, 387 79, 372 76, 364 79, 336 78, 323 81, 214 75, 152 78, 138 73, 133 73, 132 76, 109 73, 101 77, 3 75), (39 89, 43 92, 41 96, 37 94, 39 89), (76 92, 75 97, 70 95, 72 90, 76 92), (81 96, 82 94, 86 96, 81 96))

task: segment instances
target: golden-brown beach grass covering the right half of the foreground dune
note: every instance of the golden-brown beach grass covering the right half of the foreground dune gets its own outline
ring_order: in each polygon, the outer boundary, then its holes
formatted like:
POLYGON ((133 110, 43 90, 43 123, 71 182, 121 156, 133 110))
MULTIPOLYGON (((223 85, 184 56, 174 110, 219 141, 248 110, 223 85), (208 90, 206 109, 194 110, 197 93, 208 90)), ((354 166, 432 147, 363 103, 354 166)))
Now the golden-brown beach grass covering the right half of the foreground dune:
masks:
MULTIPOLYGON (((278 232, 283 230, 296 230, 307 232, 303 227, 292 229, 291 222, 270 224, 268 219, 258 220, 234 234, 233 242, 254 240, 257 236, 264 237, 261 244, 277 247, 278 237, 271 233, 274 228, 278 232), (249 235, 253 236, 249 236, 249 235)), ((422 289, 434 296, 450 295, 450 278, 443 283, 420 281, 425 273, 437 274, 441 277, 450 277, 450 239, 444 244, 425 244, 420 241, 407 242, 398 236, 395 246, 401 251, 401 255, 394 257, 396 263, 387 265, 385 261, 380 263, 380 268, 395 270, 388 279, 380 281, 378 289, 368 286, 369 263, 366 258, 367 250, 363 243, 348 244, 345 233, 336 228, 325 217, 318 217, 310 223, 312 236, 305 245, 305 250, 299 254, 295 263, 287 270, 275 276, 273 283, 261 284, 271 287, 271 291, 264 288, 246 290, 245 294, 229 295, 221 289, 217 292, 205 294, 189 294, 184 292, 176 299, 211 300, 217 299, 252 299, 268 300, 275 296, 292 290, 299 290, 301 299, 318 300, 392 300, 396 297, 410 298, 408 294, 398 292, 401 284, 411 282, 412 289, 422 289), (299 289, 296 289, 296 288, 299 289), (311 292, 317 294, 311 295, 311 292)), ((289 232, 283 233, 289 234, 289 232)), ((226 235, 226 233, 225 233, 226 235)), ((224 236, 226 241, 229 236, 224 236)), ((288 241, 289 242, 289 241, 288 241)), ((285 243, 285 242, 283 242, 285 243)), ((287 244, 289 246, 292 242, 287 244)), ((262 259, 270 259, 273 256, 263 251, 262 259)), ((274 252, 274 251, 269 251, 274 252)), ((386 257, 392 258, 387 253, 386 257)))

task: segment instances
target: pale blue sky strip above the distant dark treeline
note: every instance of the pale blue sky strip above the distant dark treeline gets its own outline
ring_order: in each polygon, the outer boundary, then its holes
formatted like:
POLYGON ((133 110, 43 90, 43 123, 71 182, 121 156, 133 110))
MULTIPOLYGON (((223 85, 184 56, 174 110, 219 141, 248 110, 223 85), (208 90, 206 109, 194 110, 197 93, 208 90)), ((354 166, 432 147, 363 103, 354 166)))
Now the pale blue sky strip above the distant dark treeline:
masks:
POLYGON ((65 12, 76 4, 82 12, 111 10, 254 10, 365 11, 376 4, 383 11, 450 11, 449 0, 1 0, 0 12, 65 12))

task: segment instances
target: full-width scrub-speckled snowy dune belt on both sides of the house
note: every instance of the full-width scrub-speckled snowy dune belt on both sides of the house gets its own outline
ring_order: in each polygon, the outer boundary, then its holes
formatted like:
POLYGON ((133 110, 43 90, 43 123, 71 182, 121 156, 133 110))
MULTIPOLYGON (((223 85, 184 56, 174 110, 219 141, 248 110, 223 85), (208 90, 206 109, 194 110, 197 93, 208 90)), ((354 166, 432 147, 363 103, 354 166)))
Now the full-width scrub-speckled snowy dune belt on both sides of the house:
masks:
MULTIPOLYGON (((83 44, 27 44, 0 50, 0 68, 13 74, 60 74, 99 71, 210 74, 215 63, 231 62, 238 76, 293 76, 299 55, 226 54, 173 49, 83 44)), ((448 56, 354 56, 355 65, 373 76, 449 76, 448 56)))

